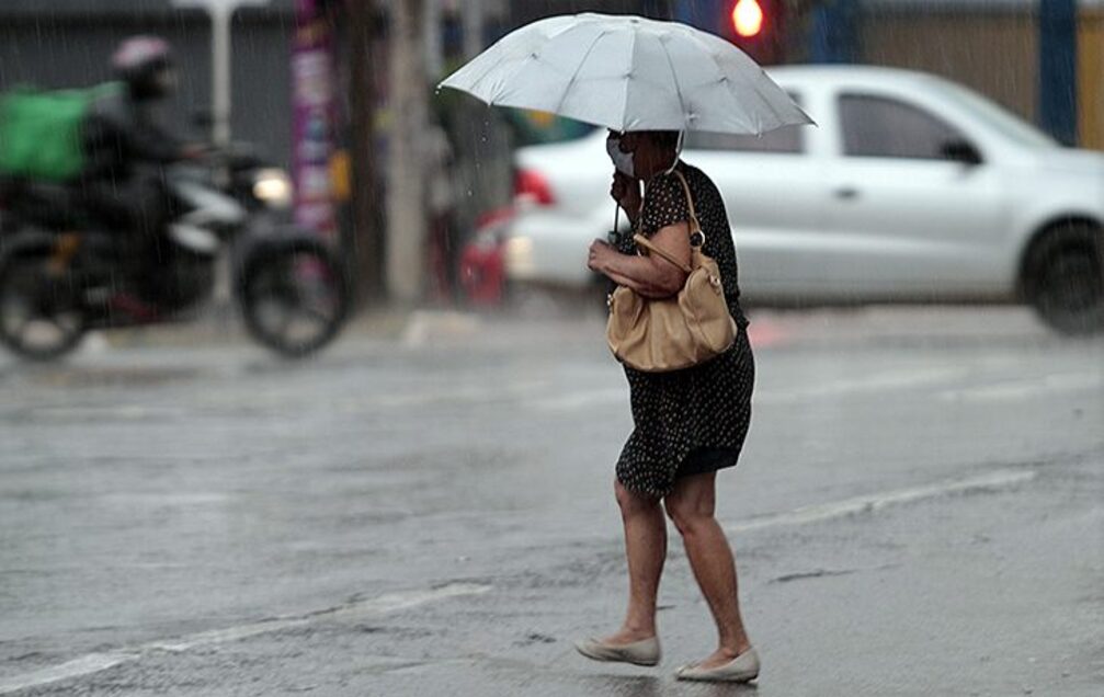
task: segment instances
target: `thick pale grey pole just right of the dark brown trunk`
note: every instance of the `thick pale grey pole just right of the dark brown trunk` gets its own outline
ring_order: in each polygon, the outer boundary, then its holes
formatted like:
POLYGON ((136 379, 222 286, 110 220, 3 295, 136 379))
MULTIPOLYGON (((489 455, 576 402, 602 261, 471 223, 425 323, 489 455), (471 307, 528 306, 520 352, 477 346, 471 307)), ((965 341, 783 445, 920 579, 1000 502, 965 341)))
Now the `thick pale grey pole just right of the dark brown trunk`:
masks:
POLYGON ((391 139, 388 154, 388 292, 412 304, 422 299, 426 216, 420 140, 425 133, 424 0, 391 2, 391 139))

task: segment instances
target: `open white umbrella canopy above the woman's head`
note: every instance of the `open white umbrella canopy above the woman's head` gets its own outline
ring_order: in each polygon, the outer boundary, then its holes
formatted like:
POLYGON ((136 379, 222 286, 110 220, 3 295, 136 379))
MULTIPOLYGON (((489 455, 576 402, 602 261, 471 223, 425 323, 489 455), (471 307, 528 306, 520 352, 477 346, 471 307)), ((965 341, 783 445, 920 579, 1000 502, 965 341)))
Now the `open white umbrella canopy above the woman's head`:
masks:
POLYGON ((439 85, 619 131, 764 133, 813 124, 763 68, 686 24, 576 14, 511 32, 439 85))

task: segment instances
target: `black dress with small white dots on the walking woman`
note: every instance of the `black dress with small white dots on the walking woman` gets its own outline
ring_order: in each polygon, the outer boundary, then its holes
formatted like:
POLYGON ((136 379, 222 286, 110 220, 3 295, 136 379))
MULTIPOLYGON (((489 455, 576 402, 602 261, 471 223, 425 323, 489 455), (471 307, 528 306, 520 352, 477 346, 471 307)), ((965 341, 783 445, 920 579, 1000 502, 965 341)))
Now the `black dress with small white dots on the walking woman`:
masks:
MULTIPOLYGON (((625 366, 633 423, 617 461, 617 479, 629 491, 666 496, 679 476, 733 467, 740 458, 752 417, 755 361, 747 341, 747 319, 740 308, 736 249, 724 201, 713 182, 682 161, 694 208, 705 234, 703 251, 716 260, 729 311, 736 321, 736 341, 726 353, 684 371, 641 373, 625 366)), ((657 174, 646 186, 639 232, 690 219, 678 178, 657 174)), ((620 235, 617 249, 636 254, 631 234, 620 235)))

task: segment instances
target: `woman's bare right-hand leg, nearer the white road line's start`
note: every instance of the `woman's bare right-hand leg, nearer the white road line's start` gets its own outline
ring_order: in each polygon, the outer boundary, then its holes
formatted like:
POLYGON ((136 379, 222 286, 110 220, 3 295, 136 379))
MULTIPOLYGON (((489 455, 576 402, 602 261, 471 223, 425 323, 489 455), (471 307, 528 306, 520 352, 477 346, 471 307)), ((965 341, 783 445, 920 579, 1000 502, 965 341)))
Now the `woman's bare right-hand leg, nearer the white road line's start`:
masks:
POLYGON ((716 622, 718 650, 701 662, 704 668, 729 663, 751 647, 740 616, 735 559, 724 530, 713 517, 715 482, 715 472, 681 478, 664 501, 682 535, 690 568, 716 622))

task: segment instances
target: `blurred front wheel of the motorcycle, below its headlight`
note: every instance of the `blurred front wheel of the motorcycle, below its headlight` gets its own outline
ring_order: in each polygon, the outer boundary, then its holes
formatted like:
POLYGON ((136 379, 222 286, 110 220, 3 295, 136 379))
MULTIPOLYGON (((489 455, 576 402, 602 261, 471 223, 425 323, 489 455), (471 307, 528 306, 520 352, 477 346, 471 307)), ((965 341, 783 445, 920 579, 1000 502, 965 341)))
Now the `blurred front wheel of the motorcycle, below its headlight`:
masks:
POLYGON ((259 250, 240 280, 245 326, 261 344, 300 358, 330 343, 349 314, 349 283, 320 243, 259 250))

